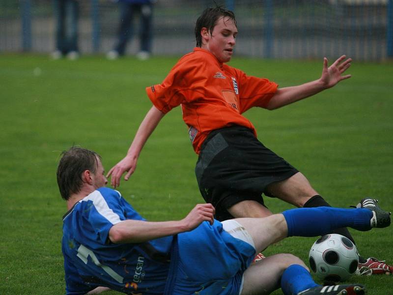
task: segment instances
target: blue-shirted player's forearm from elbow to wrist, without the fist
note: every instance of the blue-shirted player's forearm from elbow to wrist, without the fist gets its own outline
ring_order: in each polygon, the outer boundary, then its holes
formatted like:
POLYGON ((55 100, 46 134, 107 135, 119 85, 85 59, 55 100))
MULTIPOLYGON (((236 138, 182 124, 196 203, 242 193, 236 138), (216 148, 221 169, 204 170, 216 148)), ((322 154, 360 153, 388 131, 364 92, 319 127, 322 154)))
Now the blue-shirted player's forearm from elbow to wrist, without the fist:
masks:
POLYGON ((149 222, 124 220, 112 226, 109 238, 113 243, 140 243, 188 231, 183 221, 149 222))

